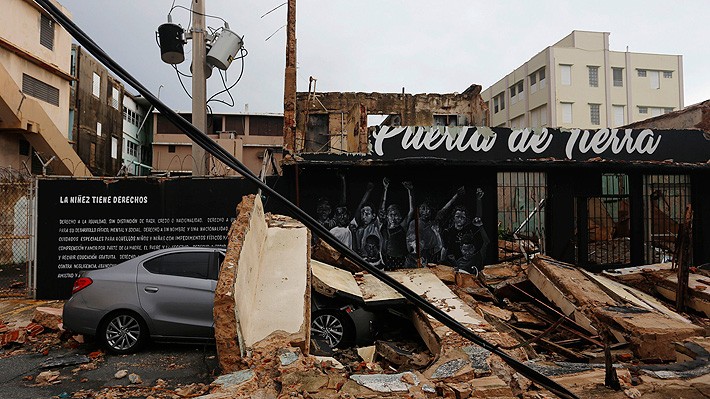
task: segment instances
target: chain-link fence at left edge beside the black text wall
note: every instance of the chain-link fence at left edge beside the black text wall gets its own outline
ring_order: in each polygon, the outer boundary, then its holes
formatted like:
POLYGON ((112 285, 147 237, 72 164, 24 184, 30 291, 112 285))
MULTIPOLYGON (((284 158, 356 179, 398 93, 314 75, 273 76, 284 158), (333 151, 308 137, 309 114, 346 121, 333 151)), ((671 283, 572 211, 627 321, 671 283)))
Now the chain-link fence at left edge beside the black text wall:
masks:
POLYGON ((0 168, 0 297, 28 295, 33 178, 0 168))

